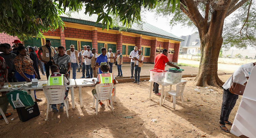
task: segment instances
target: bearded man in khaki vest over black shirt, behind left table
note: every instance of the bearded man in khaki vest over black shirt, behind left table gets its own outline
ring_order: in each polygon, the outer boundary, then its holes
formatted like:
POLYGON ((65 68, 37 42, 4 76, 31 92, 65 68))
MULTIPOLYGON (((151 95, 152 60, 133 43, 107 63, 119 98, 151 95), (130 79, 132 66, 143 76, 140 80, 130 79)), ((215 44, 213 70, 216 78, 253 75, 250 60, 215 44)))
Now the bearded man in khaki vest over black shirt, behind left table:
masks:
POLYGON ((51 45, 52 42, 50 40, 46 40, 45 45, 42 45, 37 53, 39 59, 44 63, 47 79, 50 75, 49 70, 50 66, 53 65, 53 56, 55 54, 54 47, 51 45))

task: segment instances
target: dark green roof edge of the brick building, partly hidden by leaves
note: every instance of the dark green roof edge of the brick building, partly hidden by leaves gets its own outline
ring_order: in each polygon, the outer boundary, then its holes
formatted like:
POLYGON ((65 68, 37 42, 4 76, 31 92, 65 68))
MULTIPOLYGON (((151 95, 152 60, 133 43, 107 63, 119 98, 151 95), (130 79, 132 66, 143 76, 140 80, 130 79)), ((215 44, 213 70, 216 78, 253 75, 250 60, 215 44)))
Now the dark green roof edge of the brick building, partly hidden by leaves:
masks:
MULTIPOLYGON (((86 20, 81 20, 81 19, 73 19, 73 18, 68 18, 68 17, 61 17, 61 19, 62 19, 62 21, 71 22, 71 23, 85 24, 85 25, 90 25, 90 26, 95 26, 95 27, 100 27, 100 28, 103 27, 101 23, 96 24, 96 22, 91 22, 91 21, 86 21, 86 20)), ((113 27, 112 30, 118 31, 119 29, 120 29, 119 27, 113 27)), ((153 36, 153 37, 166 38, 166 39, 171 39, 171 40, 176 40, 176 41, 184 41, 184 39, 173 38, 173 37, 169 37, 169 36, 159 35, 159 34, 145 32, 145 31, 139 31, 139 30, 135 30, 135 29, 127 29, 127 32, 142 34, 142 35, 147 35, 147 36, 153 36)))

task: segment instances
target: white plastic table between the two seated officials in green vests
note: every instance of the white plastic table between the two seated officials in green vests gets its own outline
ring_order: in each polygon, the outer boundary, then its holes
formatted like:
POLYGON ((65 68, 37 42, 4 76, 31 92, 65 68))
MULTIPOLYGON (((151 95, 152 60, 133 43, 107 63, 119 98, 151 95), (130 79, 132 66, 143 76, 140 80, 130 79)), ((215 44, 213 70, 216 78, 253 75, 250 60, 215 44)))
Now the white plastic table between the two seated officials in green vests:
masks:
MULTIPOLYGON (((92 82, 83 83, 83 81, 93 81, 96 78, 88 78, 88 79, 75 79, 75 84, 79 88, 79 99, 80 99, 80 107, 83 107, 83 97, 82 97, 82 86, 95 86, 92 82)), ((118 83, 118 81, 116 81, 118 83)), ((116 85, 114 85, 114 102, 116 102, 116 85)), ((72 99, 73 101, 74 99, 72 99)))

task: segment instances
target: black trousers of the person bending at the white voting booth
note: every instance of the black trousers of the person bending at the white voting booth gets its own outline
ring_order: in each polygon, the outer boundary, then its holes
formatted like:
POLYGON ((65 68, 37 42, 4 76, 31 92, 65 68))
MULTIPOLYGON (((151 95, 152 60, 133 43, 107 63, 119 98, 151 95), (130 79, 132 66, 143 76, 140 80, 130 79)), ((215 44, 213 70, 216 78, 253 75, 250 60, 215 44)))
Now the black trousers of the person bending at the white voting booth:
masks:
POLYGON ((225 121, 228 121, 229 115, 236 105, 238 95, 232 94, 229 90, 223 90, 223 102, 221 107, 221 118, 219 121, 220 124, 225 124, 225 121))

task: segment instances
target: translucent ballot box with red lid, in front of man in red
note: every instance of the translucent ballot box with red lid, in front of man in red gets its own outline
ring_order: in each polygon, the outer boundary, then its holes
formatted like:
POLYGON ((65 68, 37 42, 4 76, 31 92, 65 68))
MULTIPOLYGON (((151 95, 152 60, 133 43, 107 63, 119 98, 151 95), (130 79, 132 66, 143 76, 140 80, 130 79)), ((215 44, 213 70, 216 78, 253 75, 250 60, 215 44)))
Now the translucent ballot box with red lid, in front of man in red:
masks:
POLYGON ((165 70, 150 70, 150 80, 156 83, 163 82, 165 80, 165 70))

